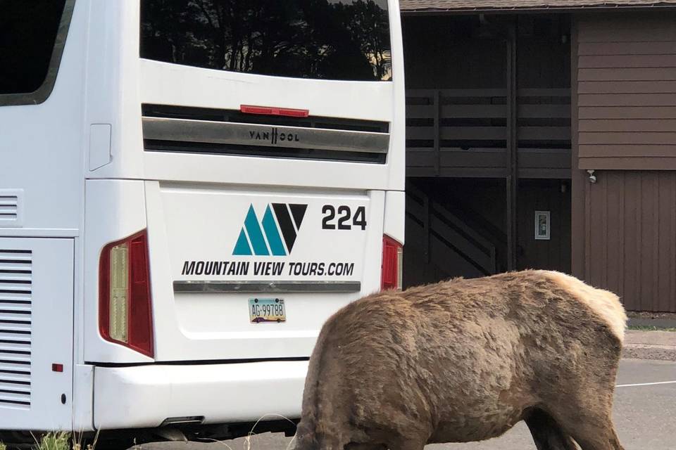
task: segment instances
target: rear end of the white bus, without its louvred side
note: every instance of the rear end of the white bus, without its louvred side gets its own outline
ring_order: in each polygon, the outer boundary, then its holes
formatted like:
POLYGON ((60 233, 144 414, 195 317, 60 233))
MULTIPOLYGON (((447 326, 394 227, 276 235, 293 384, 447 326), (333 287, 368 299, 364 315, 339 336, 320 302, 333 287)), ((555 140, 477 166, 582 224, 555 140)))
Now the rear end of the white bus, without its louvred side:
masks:
POLYGON ((401 283, 396 0, 77 0, 71 27, 74 427, 298 418, 325 319, 401 283))

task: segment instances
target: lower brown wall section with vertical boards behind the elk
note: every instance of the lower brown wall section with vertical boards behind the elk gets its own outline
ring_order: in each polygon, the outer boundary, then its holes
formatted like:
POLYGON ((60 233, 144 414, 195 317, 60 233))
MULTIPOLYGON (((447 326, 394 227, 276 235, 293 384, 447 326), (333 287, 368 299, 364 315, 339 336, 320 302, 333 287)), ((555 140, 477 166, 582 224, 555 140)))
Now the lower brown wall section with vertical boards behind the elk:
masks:
POLYGON ((634 311, 676 312, 676 172, 602 171, 584 185, 585 279, 634 311))

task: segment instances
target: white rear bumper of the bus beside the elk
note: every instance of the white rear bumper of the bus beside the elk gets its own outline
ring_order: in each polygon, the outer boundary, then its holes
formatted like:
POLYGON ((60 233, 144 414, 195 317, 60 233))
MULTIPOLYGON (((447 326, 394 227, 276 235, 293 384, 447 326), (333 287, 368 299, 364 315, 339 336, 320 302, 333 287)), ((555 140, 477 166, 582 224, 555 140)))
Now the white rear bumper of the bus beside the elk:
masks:
POLYGON ((165 420, 203 423, 299 418, 308 361, 94 369, 94 427, 155 428, 165 420))

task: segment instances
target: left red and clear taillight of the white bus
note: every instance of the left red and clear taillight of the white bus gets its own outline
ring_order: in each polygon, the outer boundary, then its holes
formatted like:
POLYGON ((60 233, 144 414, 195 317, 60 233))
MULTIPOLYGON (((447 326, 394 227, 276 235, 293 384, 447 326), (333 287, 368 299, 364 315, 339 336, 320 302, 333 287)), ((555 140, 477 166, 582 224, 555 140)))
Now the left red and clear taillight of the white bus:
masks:
POLYGON ((146 231, 109 243, 99 261, 99 331, 151 358, 153 321, 146 231))

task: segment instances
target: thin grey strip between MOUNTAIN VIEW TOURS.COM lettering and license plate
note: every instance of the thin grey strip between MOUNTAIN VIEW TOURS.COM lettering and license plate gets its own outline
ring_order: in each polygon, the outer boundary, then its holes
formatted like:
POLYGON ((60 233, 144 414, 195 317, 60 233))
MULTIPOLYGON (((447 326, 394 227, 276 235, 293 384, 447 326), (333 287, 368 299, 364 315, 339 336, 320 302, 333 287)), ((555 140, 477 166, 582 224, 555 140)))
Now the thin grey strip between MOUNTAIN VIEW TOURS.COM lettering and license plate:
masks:
POLYGON ((174 281, 175 293, 358 293, 361 281, 174 281))

